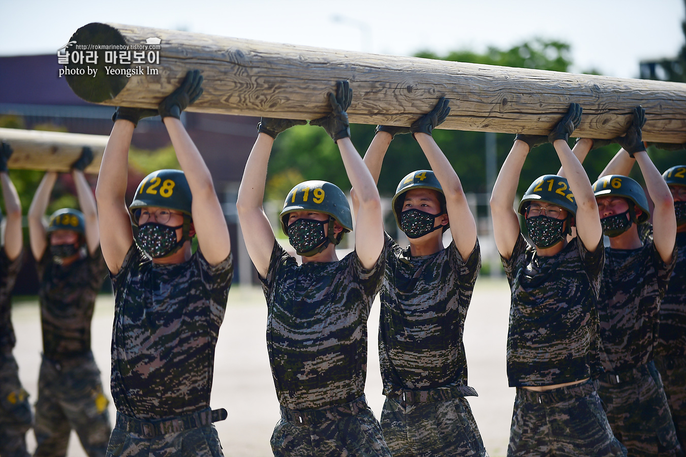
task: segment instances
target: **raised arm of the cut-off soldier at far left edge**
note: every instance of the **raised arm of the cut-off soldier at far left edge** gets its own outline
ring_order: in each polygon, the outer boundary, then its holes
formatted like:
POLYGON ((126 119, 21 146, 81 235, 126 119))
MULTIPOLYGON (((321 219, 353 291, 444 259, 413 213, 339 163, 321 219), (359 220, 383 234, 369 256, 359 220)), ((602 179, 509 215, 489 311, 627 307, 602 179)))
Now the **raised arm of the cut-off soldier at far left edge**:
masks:
POLYGON ((23 233, 21 230, 21 202, 19 194, 10 180, 7 163, 12 156, 12 148, 8 143, 0 143, 0 183, 2 185, 3 200, 5 200, 5 254, 10 260, 21 254, 23 247, 23 233))

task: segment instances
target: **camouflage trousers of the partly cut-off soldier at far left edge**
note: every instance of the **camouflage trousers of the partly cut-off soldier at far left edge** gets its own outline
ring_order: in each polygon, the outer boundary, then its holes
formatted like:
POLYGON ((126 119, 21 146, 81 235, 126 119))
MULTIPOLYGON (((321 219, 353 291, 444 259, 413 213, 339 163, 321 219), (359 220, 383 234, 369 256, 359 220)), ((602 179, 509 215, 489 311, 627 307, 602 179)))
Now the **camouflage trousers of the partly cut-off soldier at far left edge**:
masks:
POLYGON ((0 456, 29 456, 26 432, 31 423, 29 394, 19 382, 19 366, 11 351, 0 353, 0 456))

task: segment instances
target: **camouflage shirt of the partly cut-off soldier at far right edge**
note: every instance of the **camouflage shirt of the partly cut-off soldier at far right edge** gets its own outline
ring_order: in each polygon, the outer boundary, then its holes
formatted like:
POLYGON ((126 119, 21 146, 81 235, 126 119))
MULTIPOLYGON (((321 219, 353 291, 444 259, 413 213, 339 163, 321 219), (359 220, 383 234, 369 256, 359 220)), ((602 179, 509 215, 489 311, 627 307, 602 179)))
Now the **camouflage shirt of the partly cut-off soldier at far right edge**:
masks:
POLYGON ((660 306, 656 355, 686 358, 686 233, 676 234, 674 272, 660 306))

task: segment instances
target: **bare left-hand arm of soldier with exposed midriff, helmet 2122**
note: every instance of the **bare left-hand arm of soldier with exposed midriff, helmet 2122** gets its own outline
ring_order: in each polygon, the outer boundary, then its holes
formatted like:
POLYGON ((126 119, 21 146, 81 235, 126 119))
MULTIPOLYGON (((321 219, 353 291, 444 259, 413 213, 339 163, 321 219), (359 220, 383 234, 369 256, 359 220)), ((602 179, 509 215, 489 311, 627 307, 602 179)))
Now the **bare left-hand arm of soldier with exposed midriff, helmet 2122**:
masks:
POLYGON ((495 246, 504 259, 510 259, 514 244, 519 238, 519 218, 514 211, 514 197, 517 194, 517 184, 521 167, 524 165, 530 145, 523 139, 514 139, 514 144, 503 166, 500 167, 498 177, 490 194, 490 212, 493 215, 493 235, 495 246))

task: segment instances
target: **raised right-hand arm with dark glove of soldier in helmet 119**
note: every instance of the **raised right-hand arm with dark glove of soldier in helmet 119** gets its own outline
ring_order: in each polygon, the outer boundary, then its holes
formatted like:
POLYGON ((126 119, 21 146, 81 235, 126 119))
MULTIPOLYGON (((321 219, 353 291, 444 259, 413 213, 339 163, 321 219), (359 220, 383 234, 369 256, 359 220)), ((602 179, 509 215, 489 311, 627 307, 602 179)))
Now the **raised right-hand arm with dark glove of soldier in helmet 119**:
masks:
POLYGON ((353 91, 348 81, 336 83, 336 93, 329 93, 332 113, 310 121, 310 125, 321 126, 338 144, 343 165, 348 173, 359 202, 355 221, 355 252, 364 268, 372 268, 383 250, 383 218, 381 198, 376 182, 350 140, 350 128, 346 110, 353 100, 353 91))

